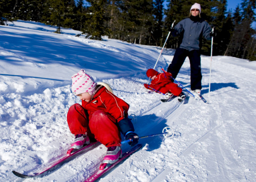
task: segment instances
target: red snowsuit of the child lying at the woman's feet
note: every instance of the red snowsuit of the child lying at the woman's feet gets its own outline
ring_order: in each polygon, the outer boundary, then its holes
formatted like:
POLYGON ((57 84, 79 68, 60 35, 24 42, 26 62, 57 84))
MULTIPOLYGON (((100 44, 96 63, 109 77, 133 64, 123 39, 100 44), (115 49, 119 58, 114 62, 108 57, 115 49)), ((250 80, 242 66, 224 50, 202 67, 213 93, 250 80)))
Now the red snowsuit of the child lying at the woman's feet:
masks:
POLYGON ((154 88, 155 90, 162 92, 163 94, 171 92, 173 93, 173 95, 179 96, 182 92, 182 88, 178 87, 177 84, 173 83, 170 76, 172 76, 172 74, 169 72, 158 73, 157 77, 154 80, 151 80, 150 85, 145 83, 144 87, 150 90, 152 90, 151 88, 154 88), (148 88, 148 86, 151 88, 148 88))

